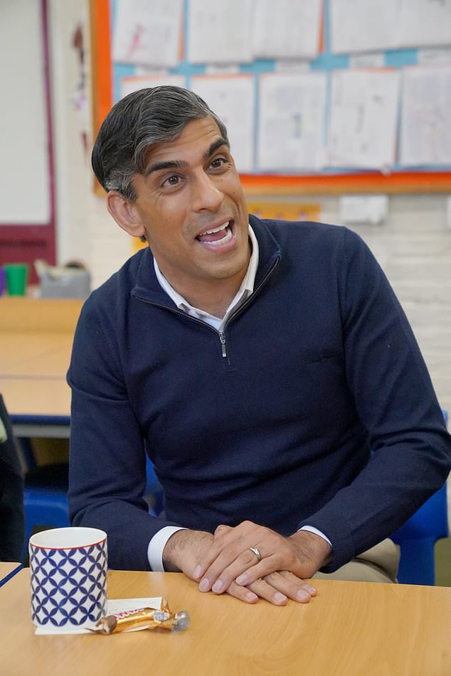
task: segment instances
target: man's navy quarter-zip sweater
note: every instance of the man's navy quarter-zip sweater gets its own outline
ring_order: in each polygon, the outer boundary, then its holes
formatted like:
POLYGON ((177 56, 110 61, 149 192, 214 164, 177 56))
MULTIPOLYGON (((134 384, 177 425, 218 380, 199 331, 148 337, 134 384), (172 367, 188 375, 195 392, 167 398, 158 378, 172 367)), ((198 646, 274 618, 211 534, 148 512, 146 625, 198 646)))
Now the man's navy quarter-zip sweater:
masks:
POLYGON ((255 288, 223 336, 176 309, 148 248, 83 307, 68 372, 70 517, 107 532, 112 568, 149 569, 164 525, 250 519, 283 535, 317 527, 331 572, 450 471, 420 350, 364 242, 333 225, 250 223, 255 288), (142 499, 145 452, 165 517, 142 499))

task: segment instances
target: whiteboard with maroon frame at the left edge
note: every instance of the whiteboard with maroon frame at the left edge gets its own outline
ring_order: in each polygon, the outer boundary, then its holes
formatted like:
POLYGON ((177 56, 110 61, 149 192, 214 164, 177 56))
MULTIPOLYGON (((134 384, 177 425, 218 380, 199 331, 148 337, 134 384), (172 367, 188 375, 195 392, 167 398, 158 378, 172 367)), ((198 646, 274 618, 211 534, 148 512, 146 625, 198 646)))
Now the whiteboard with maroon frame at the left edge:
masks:
MULTIPOLYGON (((55 262, 48 53, 46 0, 3 0, 0 264, 55 262)), ((36 281, 33 267, 31 281, 36 281)))

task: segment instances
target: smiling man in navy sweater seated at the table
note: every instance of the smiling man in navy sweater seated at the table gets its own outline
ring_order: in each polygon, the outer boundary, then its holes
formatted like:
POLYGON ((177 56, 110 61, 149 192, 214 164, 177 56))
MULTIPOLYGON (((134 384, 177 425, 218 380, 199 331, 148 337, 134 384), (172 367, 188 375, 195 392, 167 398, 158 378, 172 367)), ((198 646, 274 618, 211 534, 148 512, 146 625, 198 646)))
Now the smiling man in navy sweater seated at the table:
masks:
POLYGON ((225 127, 178 87, 117 103, 92 166, 149 247, 78 324, 73 524, 107 531, 113 568, 183 571, 248 603, 309 601, 319 569, 394 579, 384 539, 445 481, 451 444, 368 248, 248 217, 225 127))

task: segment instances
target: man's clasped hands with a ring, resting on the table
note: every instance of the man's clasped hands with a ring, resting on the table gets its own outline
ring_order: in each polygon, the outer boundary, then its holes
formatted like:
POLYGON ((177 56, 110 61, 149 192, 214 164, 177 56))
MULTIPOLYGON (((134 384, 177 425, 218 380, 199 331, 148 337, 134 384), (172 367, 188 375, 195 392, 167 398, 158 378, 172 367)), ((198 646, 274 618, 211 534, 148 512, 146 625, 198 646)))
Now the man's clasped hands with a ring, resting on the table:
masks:
MULTIPOLYGON (((180 533, 186 538, 190 531, 180 533)), ((199 582, 201 591, 227 592, 246 603, 255 603, 259 597, 277 606, 285 605, 288 598, 307 603, 317 592, 304 578, 317 572, 331 549, 314 533, 298 531, 283 537, 251 521, 235 527, 220 525, 213 539, 207 533, 202 535, 207 538, 198 540, 202 546, 197 545, 200 555, 195 564, 182 564, 180 569, 199 582), (250 547, 257 547, 260 561, 250 547)))

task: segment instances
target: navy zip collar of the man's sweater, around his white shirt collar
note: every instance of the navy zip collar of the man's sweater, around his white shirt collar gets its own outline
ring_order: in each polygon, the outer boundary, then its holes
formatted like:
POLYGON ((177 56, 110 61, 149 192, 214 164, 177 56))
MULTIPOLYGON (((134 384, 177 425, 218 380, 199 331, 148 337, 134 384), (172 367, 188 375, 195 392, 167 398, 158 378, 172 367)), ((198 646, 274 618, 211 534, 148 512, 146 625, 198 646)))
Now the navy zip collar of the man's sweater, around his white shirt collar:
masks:
MULTIPOLYGON (((254 284, 254 289, 257 289, 260 285, 260 281, 268 274, 272 265, 275 263, 275 260, 280 258, 281 251, 279 243, 275 240, 275 237, 273 237, 270 230, 268 230, 264 221, 250 214, 249 222, 258 241, 259 262, 254 284)), ((176 307, 174 301, 166 294, 166 291, 161 289, 159 281, 156 278, 154 257, 152 256, 149 247, 146 247, 142 252, 137 271, 136 284, 134 285, 131 294, 132 296, 158 305, 173 309, 176 307)))

